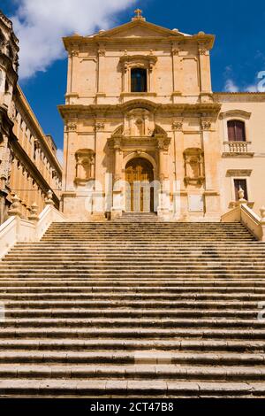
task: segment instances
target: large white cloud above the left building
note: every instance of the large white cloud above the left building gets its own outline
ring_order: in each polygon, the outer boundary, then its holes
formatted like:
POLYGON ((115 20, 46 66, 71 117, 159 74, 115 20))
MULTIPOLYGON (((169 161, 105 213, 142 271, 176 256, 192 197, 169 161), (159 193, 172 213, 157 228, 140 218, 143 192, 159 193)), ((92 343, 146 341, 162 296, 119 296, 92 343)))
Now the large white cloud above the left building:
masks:
POLYGON ((27 79, 64 57, 62 36, 91 35, 96 27, 108 28, 114 15, 137 0, 15 0, 11 17, 19 37, 19 76, 27 79))

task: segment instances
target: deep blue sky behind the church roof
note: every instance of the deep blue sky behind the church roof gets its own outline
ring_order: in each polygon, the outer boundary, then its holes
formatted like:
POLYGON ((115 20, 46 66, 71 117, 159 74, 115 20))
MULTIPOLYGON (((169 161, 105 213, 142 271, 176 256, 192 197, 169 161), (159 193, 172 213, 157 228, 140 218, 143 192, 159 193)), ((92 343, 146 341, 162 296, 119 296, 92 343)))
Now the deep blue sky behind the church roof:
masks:
MULTIPOLYGON (((18 4, 23 2, 36 4, 42 2, 49 8, 49 0, 1 0, 0 8, 9 17, 18 15, 18 4), (48 4, 47 4, 48 2, 48 4)), ((54 3, 62 0, 53 0, 54 3)), ((66 1, 66 0, 64 0, 66 1)), ((91 27, 97 27, 97 21, 91 22, 93 17, 95 0, 78 0, 80 4, 85 3, 91 10, 87 19, 87 35, 91 33, 91 27), (88 20, 87 20, 88 21, 88 20)), ((99 0, 100 3, 103 0, 99 0)), ((213 0, 105 0, 108 4, 115 4, 114 11, 110 10, 109 16, 101 19, 101 11, 95 11, 96 19, 99 19, 99 27, 113 27, 129 21, 136 6, 143 10, 148 21, 157 25, 169 28, 178 28, 181 32, 195 34, 200 30, 216 35, 216 46, 211 54, 212 81, 214 91, 227 89, 247 90, 254 89, 257 82, 257 73, 265 71, 265 4, 261 1, 249 2, 247 0, 226 0, 213 2, 213 0), (118 12, 118 3, 124 2, 128 5, 125 10, 118 12)), ((71 2, 71 0, 68 0, 71 2)), ((72 0, 77 4, 77 0, 72 0)), ((76 5, 79 7, 79 5, 76 5)), ((34 5, 33 5, 34 8, 34 5)), ((96 8, 96 5, 95 5, 96 8)), ((27 12, 27 8, 26 8, 27 12)), ((34 10, 31 10, 34 14, 34 10)), ((20 22, 23 23, 25 10, 19 14, 20 22), (24 13, 24 15, 23 15, 24 13)), ((49 14, 47 16, 49 19, 49 14)), ((96 20, 95 19, 95 20, 96 20)), ((73 32, 72 27, 79 26, 79 23, 71 22, 64 28, 64 33, 73 32)), ((64 22, 60 22, 64 26, 64 22)), ((82 23, 81 31, 84 32, 86 20, 82 23)), ((40 23, 41 25, 41 23, 40 23)), ((40 26, 37 29, 40 29, 40 26)), ((52 25, 56 25, 56 19, 50 19, 50 27, 47 30, 52 32, 52 25)), ((79 29, 79 27, 77 27, 79 29)), ((22 28, 23 29, 23 28, 22 28)), ((37 30, 35 29, 35 30, 37 30)), ((33 28, 34 30, 34 28, 33 28)), ((41 29, 40 29, 41 30, 41 29)), ((45 29, 46 30, 46 29, 45 29)), ((45 32, 43 29, 43 32, 45 32)), ((55 30, 56 32, 56 30, 55 30)), ((23 31, 21 32, 23 36, 23 31)), ((45 36, 47 34, 44 34, 45 36)), ((34 36, 33 36, 34 37, 34 36)), ((60 36, 58 36, 60 37, 60 36)), ((36 35, 36 39, 38 36, 36 35)), ((49 36, 46 42, 49 42, 49 36), (47 41, 48 39, 48 41, 47 41)), ((37 46, 35 50, 38 50, 37 46)), ((41 50, 41 48, 40 48, 41 50)), ((56 51, 55 51, 56 53, 56 51)), ((27 56, 24 58, 27 59, 27 56)), ((60 59, 55 60, 45 72, 35 72, 20 80, 29 103, 32 105, 43 130, 51 134, 56 140, 58 148, 63 147, 63 123, 57 112, 57 104, 64 104, 64 93, 66 88, 66 58, 61 54, 60 59)), ((42 54, 40 54, 42 57, 42 54)), ((40 58, 41 60, 42 58, 40 58)))

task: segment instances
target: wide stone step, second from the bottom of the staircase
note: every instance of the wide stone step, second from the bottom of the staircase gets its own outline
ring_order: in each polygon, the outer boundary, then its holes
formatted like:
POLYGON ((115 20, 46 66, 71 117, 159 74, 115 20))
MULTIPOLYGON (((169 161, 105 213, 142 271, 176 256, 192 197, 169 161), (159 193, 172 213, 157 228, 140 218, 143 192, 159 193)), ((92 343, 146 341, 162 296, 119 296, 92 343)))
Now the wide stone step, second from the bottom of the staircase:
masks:
POLYGON ((0 379, 99 379, 113 380, 171 380, 171 381, 265 381, 265 367, 222 366, 221 368, 174 365, 68 365, 52 367, 39 365, 3 365, 0 379))

